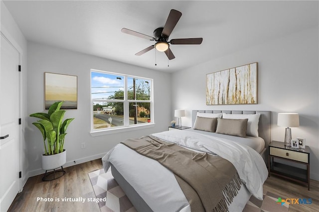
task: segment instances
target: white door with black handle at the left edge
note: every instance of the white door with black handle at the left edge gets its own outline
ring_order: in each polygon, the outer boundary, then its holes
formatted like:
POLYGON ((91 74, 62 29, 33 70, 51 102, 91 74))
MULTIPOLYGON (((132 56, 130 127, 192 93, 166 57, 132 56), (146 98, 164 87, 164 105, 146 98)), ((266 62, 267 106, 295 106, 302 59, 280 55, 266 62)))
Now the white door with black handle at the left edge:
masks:
POLYGON ((19 191, 19 53, 1 34, 0 212, 19 191))

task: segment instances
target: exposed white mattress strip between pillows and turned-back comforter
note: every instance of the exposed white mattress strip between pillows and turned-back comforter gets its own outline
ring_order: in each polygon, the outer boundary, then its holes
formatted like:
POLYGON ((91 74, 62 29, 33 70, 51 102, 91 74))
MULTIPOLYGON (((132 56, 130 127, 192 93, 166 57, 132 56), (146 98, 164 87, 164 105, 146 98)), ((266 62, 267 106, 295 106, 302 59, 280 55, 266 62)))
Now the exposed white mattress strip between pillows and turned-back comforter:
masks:
POLYGON ((214 136, 218 138, 224 138, 224 139, 235 141, 241 144, 245 144, 253 148, 258 153, 261 153, 265 148, 265 141, 261 137, 246 136, 245 138, 243 138, 243 137, 232 136, 232 135, 224 135, 224 134, 215 133, 215 132, 207 132, 207 131, 197 130, 193 128, 184 129, 184 130, 193 131, 200 134, 210 135, 210 136, 214 136))

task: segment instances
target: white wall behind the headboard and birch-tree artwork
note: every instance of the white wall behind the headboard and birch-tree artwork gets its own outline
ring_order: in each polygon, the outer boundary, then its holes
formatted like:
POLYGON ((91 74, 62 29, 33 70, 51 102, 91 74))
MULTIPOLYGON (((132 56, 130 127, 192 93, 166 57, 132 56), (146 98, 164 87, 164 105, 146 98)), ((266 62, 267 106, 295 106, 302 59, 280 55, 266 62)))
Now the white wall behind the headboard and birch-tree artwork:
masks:
MULTIPOLYGON (((185 108, 183 125, 191 126, 192 109, 271 110, 272 139, 283 141, 278 112, 298 112, 300 127, 292 136, 311 148, 311 178, 319 180, 319 33, 318 27, 265 42, 172 74, 172 106, 185 108), (258 62, 258 104, 206 106, 206 74, 258 62)), ((212 51, 218 51, 212 48, 212 51)))

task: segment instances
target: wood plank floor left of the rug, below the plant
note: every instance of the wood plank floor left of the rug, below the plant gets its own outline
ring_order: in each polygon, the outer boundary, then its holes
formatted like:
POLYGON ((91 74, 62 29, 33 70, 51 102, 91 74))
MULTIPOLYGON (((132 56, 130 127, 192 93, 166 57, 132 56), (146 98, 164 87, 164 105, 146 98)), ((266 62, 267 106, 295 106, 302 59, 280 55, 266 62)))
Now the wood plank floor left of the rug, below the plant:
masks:
POLYGON ((101 159, 64 168, 66 174, 53 181, 43 182, 43 175, 30 177, 8 212, 99 212, 95 202, 62 202, 62 198, 95 198, 88 173, 98 169, 102 169, 101 159), (53 202, 37 201, 41 197, 53 202))

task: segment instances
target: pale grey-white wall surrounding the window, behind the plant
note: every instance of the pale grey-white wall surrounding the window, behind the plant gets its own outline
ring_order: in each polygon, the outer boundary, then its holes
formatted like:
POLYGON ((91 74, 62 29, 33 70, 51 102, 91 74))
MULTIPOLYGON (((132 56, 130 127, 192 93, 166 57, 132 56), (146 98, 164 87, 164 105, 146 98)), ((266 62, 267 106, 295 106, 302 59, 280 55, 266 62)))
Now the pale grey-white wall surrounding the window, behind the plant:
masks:
MULTIPOLYGON (((107 51, 107 49, 105 50, 107 51)), ((141 137, 153 132, 167 130, 170 121, 171 96, 170 74, 155 70, 123 64, 108 59, 82 53, 28 42, 28 114, 44 111, 44 72, 78 76, 78 109, 67 110, 65 118, 75 117, 68 127, 65 138, 67 164, 86 162, 101 158, 117 143, 127 138, 141 137), (105 70, 154 79, 154 115, 155 126, 147 129, 116 134, 91 136, 90 134, 90 69, 105 70), (81 143, 86 148, 81 149, 81 143)), ((36 119, 28 117, 25 130, 28 141, 28 160, 30 176, 42 173, 41 154, 42 135, 31 124, 36 119)))

